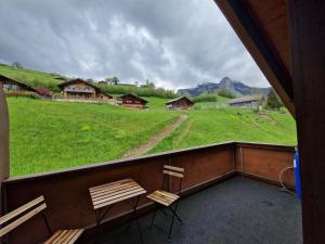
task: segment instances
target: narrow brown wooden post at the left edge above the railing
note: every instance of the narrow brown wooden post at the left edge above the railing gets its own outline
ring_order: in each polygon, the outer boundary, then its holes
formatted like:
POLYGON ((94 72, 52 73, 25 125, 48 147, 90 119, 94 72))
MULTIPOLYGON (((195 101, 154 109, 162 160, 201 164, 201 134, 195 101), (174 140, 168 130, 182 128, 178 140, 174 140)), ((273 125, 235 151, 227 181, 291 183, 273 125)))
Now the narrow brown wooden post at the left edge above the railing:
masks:
MULTIPOLYGON (((9 113, 3 92, 2 82, 0 82, 0 183, 9 178, 9 113)), ((2 209, 2 195, 0 185, 0 209, 2 209)))

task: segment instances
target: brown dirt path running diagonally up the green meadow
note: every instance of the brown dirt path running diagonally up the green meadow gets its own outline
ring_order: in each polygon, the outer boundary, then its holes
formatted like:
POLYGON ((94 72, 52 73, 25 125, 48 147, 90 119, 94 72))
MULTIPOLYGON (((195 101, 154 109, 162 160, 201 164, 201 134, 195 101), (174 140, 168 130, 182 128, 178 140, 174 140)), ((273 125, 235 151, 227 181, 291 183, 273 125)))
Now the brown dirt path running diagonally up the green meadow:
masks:
POLYGON ((151 149, 157 145, 162 139, 171 134, 172 131, 174 131, 180 125, 182 125, 187 119, 187 117, 188 117, 187 115, 181 115, 171 125, 168 125, 159 133, 154 136, 148 142, 134 150, 125 153, 122 157, 135 157, 148 152, 151 149))

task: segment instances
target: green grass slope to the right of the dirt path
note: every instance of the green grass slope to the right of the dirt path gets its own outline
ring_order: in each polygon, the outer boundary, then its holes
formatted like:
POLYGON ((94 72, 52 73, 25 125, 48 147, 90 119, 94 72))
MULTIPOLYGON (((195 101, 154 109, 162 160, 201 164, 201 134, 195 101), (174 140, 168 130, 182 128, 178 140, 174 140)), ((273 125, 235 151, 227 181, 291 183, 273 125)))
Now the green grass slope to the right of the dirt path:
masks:
POLYGON ((183 124, 150 153, 225 141, 297 144, 296 124, 289 114, 265 111, 257 114, 235 107, 191 111, 187 114, 191 125, 183 124))

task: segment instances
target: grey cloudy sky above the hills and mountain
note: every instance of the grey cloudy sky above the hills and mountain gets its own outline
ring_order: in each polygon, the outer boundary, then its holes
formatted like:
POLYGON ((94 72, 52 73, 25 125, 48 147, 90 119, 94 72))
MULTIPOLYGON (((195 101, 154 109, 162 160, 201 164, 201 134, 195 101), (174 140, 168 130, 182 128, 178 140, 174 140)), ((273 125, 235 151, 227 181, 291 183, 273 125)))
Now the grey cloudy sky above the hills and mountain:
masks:
POLYGON ((212 0, 0 0, 0 62, 178 89, 269 86, 212 0))

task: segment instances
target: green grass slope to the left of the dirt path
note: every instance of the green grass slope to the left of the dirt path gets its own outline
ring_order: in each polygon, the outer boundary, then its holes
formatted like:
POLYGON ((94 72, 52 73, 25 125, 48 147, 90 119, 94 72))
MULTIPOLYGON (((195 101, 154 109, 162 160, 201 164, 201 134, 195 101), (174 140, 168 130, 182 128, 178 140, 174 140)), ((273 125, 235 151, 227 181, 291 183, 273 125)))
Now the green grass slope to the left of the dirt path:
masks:
MULTIPOLYGON (((9 98, 11 176, 119 158, 177 114, 108 104, 9 98)), ((162 101, 161 101, 162 103, 162 101)))

